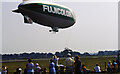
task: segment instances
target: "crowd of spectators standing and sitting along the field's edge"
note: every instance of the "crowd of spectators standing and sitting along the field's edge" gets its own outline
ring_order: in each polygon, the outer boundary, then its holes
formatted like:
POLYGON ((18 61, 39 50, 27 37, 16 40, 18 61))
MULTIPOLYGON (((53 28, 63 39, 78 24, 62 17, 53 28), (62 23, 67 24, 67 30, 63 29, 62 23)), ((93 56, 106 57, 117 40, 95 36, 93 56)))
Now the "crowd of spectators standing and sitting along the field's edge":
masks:
MULTIPOLYGON (((49 64, 49 74, 88 74, 90 72, 100 73, 103 72, 99 66, 93 68, 94 71, 87 69, 84 64, 81 63, 80 57, 75 56, 74 58, 71 57, 71 54, 67 54, 67 58, 63 64, 58 64, 59 58, 54 55, 52 59, 50 59, 49 64)), ((105 72, 116 72, 118 70, 118 62, 113 60, 112 62, 109 61, 106 65, 105 72)), ((38 63, 36 63, 35 67, 32 62, 32 59, 28 59, 28 63, 26 64, 26 68, 24 69, 24 73, 22 73, 22 68, 18 67, 14 74, 46 74, 47 68, 41 68, 38 63), (34 69, 33 69, 34 68, 34 69)), ((6 66, 2 66, 2 74, 8 74, 8 68, 6 66)))

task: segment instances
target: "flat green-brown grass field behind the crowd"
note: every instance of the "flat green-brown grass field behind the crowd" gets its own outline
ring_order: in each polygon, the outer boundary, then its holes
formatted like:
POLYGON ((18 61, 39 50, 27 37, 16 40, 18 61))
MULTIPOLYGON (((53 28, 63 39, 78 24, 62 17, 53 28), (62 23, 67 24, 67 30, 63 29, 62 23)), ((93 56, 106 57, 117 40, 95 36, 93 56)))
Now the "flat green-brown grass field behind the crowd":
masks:
MULTIPOLYGON (((93 71, 93 68, 95 67, 96 63, 98 63, 101 67, 101 70, 105 70, 105 62, 108 63, 108 61, 116 60, 115 57, 81 57, 80 60, 82 61, 82 64, 85 64, 86 67, 93 71)), ((61 58, 59 59, 59 63, 62 63, 64 65, 65 59, 61 58)), ((33 63, 39 63, 41 68, 49 68, 49 59, 34 59, 33 63)), ((7 66, 10 73, 13 73, 16 71, 16 68, 21 67, 22 70, 25 69, 25 66, 27 64, 26 61, 12 61, 12 62, 3 62, 3 66, 7 66)))

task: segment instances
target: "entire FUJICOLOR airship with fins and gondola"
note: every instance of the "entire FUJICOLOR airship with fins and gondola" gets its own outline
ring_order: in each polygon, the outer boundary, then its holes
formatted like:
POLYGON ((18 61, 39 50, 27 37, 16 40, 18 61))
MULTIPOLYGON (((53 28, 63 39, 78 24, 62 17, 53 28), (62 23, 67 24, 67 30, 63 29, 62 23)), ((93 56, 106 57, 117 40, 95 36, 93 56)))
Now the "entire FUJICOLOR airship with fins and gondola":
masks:
POLYGON ((58 29, 71 27, 76 22, 74 12, 63 5, 42 0, 23 0, 18 9, 12 12, 21 13, 24 23, 37 23, 51 27, 49 32, 58 32, 58 29))

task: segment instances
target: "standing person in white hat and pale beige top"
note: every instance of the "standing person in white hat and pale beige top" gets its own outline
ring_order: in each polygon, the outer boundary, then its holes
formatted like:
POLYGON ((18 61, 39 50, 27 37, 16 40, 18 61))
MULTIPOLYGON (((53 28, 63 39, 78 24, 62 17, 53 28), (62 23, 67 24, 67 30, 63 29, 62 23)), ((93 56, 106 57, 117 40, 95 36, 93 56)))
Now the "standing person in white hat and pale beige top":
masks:
POLYGON ((67 54, 67 58, 65 60, 65 66, 66 66, 66 74, 73 74, 73 59, 71 58, 71 54, 67 54))

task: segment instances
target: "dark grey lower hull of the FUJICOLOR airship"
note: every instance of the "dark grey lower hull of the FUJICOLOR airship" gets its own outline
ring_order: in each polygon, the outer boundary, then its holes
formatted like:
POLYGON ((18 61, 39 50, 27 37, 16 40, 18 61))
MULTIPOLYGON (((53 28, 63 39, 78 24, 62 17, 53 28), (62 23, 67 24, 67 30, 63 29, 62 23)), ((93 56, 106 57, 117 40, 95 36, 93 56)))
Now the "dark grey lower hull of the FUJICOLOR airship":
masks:
MULTIPOLYGON (((27 10, 25 12, 27 13, 27 10)), ((74 24, 73 21, 67 19, 62 19, 55 16, 53 18, 52 15, 46 15, 37 12, 28 12, 27 15, 24 15, 30 17, 34 22, 48 27, 67 28, 74 24)))

